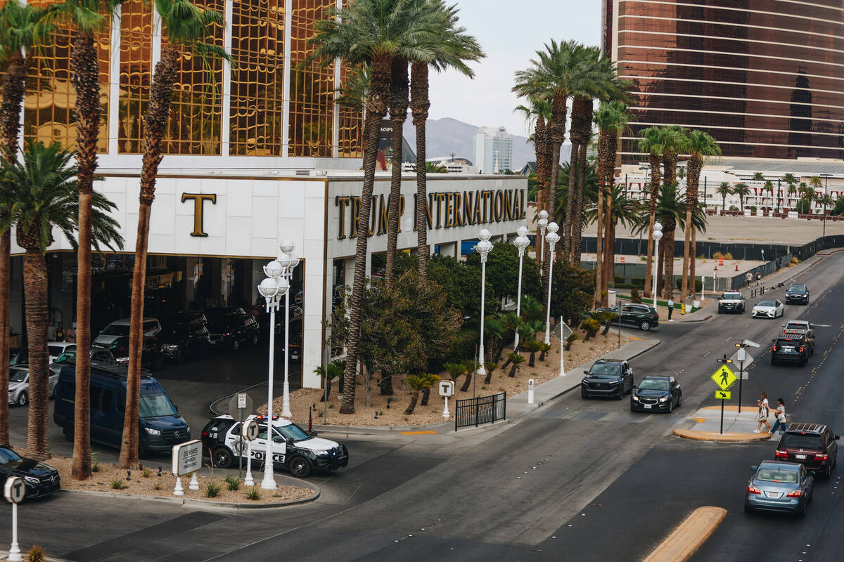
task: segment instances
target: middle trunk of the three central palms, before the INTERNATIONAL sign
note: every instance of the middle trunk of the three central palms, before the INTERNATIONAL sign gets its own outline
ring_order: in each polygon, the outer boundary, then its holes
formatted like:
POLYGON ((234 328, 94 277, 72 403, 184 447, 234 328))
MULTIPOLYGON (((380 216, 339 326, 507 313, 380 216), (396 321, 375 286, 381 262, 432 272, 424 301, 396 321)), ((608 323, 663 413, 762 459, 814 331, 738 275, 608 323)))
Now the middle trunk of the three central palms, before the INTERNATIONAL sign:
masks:
MULTIPOLYGON (((390 122, 392 123, 392 173, 390 179, 390 206, 387 211, 387 268, 384 281, 392 285, 396 277, 396 251, 398 247, 398 200, 402 195, 402 145, 404 120, 408 118, 408 62, 397 58, 392 62, 390 76, 390 122)), ((392 380, 392 378, 391 378, 392 380)))

